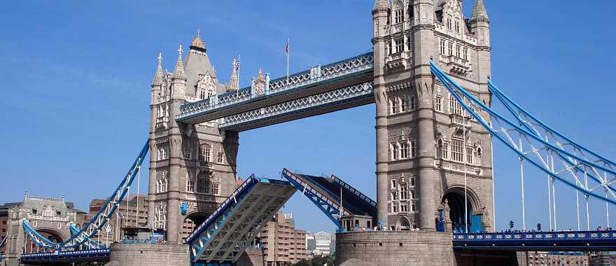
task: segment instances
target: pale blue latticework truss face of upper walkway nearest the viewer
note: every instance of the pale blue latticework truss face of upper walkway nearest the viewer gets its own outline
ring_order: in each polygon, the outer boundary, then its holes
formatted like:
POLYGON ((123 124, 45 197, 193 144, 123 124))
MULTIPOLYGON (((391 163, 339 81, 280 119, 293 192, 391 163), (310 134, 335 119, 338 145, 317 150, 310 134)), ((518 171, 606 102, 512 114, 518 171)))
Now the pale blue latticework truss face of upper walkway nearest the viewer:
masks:
POLYGON ((175 119, 183 123, 205 122, 208 119, 201 119, 200 117, 216 111, 236 109, 237 106, 245 105, 249 102, 278 97, 319 85, 337 83, 340 80, 351 80, 358 76, 370 76, 373 73, 373 66, 374 57, 372 52, 367 52, 363 55, 325 66, 316 66, 309 71, 290 75, 288 78, 277 78, 269 81, 265 92, 262 94, 255 94, 252 92, 251 87, 246 87, 237 92, 227 92, 214 95, 209 99, 199 102, 183 104, 180 107, 180 113, 175 119))

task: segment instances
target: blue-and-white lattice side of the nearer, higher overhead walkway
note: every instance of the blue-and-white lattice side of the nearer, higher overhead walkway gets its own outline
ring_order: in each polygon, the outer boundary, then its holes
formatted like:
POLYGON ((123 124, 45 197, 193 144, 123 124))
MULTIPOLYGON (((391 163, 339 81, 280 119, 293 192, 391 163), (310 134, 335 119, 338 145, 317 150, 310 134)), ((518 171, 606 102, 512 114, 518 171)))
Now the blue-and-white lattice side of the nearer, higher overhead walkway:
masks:
POLYGON ((286 92, 298 87, 322 83, 326 80, 367 71, 372 69, 373 65, 374 56, 372 55, 372 52, 367 52, 363 55, 344 59, 325 66, 317 66, 312 68, 310 71, 294 73, 288 78, 283 77, 271 80, 269 81, 269 90, 263 94, 253 94, 251 87, 244 87, 241 90, 237 90, 237 92, 227 92, 220 95, 214 95, 213 97, 199 102, 183 104, 180 106, 180 113, 176 116, 176 119, 187 118, 194 116, 197 113, 219 109, 240 102, 246 102, 250 99, 264 97, 269 94, 286 92))

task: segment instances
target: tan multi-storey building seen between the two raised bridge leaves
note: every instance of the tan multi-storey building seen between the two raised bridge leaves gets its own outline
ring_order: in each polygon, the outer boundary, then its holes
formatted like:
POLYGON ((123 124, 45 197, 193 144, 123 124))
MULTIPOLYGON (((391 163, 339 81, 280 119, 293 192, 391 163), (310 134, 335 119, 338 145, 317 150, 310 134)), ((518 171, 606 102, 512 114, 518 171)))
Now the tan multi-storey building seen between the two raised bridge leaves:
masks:
POLYGON ((279 211, 259 234, 265 265, 291 265, 307 259, 306 235, 295 229, 292 214, 279 211))

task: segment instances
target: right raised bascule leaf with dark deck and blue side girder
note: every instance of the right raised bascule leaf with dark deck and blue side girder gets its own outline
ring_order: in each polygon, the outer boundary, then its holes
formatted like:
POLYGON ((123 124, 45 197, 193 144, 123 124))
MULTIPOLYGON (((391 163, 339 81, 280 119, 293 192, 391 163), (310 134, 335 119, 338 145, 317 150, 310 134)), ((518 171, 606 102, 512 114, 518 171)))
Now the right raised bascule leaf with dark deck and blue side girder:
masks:
POLYGON ((337 176, 309 176, 283 169, 282 177, 308 197, 338 228, 341 214, 377 217, 377 202, 337 176))

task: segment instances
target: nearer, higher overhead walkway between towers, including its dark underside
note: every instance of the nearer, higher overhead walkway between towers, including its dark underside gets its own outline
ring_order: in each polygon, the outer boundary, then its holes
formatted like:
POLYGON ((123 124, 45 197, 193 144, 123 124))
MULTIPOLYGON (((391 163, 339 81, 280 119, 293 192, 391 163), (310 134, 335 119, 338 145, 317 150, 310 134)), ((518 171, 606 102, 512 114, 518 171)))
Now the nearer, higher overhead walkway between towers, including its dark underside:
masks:
POLYGON ((251 87, 245 87, 237 92, 227 92, 200 102, 184 104, 175 119, 181 123, 203 123, 291 99, 365 83, 372 80, 373 63, 372 52, 368 52, 340 62, 316 66, 288 78, 270 81, 265 92, 261 94, 255 94, 251 87))

